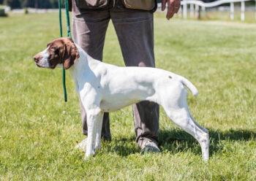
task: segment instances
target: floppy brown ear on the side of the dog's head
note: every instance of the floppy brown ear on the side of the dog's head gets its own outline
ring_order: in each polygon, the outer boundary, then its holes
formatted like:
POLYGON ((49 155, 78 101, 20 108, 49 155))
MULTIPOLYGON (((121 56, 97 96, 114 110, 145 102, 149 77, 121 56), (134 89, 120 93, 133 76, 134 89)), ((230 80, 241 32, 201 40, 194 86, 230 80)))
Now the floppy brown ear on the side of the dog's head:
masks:
POLYGON ((79 58, 78 48, 70 38, 64 38, 64 55, 63 66, 64 69, 69 69, 75 61, 79 58))

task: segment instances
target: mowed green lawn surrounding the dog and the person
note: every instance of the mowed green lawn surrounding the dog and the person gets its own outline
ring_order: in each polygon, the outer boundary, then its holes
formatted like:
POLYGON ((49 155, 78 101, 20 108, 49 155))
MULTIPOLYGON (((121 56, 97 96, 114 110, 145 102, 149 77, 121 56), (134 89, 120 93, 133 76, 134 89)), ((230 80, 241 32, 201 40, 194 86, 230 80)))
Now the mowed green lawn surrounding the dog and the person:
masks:
MULTIPOLYGON (((197 141, 162 109, 162 152, 140 155, 132 107, 110 113, 112 142, 83 161, 84 153, 74 149, 85 136, 72 77, 67 71, 65 103, 61 69, 39 69, 33 61, 59 37, 58 18, 0 18, 0 180, 256 179, 256 23, 167 21, 155 15, 157 67, 187 77, 199 90, 199 98, 189 93, 188 102, 209 130, 208 163, 197 141)), ((124 66, 111 23, 104 60, 124 66)))

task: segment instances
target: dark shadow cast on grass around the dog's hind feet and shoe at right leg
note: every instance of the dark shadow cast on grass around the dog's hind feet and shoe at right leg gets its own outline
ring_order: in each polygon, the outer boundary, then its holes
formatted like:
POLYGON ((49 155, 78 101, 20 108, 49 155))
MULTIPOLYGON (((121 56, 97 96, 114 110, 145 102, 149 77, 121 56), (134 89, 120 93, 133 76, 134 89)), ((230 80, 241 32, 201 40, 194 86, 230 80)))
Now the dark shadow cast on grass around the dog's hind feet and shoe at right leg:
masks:
MULTIPOLYGON (((222 152, 223 142, 230 142, 232 144, 232 142, 246 142, 256 138, 256 133, 249 130, 209 130, 209 135, 211 140, 210 155, 222 152)), ((201 148, 197 140, 181 129, 160 130, 159 147, 162 151, 170 153, 189 150, 196 155, 201 155, 201 148)), ((140 148, 135 143, 135 136, 113 139, 112 142, 108 142, 108 146, 104 150, 116 153, 122 157, 140 153, 140 148)))

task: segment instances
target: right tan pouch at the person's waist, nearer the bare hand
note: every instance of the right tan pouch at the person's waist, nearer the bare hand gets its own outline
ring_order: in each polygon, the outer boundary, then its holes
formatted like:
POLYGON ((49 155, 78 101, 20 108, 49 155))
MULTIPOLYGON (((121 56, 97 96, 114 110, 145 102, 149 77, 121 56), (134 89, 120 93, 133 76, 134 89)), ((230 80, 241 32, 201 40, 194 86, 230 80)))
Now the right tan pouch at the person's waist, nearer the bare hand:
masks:
POLYGON ((154 0, 122 0, 128 9, 152 10, 156 6, 154 0))

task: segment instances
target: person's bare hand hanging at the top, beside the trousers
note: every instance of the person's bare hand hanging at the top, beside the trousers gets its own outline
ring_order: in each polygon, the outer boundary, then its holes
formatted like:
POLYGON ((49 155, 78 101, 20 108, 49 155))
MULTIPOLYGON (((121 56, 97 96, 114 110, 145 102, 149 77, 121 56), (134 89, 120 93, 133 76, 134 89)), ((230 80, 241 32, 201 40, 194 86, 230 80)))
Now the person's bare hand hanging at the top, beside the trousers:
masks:
POLYGON ((167 4, 167 20, 173 18, 174 13, 178 12, 178 9, 181 7, 181 0, 162 0, 162 11, 165 10, 167 4))

